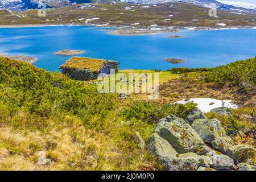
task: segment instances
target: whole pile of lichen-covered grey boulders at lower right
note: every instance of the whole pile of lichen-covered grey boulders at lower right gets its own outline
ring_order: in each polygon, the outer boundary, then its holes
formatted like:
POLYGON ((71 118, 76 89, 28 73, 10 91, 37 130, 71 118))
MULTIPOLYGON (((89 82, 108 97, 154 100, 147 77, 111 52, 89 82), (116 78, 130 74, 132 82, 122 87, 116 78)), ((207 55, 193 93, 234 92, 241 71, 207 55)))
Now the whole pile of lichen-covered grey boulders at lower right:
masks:
POLYGON ((218 119, 196 109, 185 119, 170 115, 159 120, 147 148, 165 170, 255 170, 254 147, 234 145, 218 119), (197 113, 197 114, 195 114, 197 113))

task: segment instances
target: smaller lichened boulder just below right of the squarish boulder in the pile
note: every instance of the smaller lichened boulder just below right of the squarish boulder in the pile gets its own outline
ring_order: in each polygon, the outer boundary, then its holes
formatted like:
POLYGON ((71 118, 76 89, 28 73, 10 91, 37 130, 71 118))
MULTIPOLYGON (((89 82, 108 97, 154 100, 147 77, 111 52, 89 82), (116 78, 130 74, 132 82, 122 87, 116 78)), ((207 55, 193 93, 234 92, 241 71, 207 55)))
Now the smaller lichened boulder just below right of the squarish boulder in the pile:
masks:
POLYGON ((226 154, 228 148, 232 146, 234 146, 234 142, 232 138, 228 136, 220 137, 212 141, 212 147, 223 154, 226 154))

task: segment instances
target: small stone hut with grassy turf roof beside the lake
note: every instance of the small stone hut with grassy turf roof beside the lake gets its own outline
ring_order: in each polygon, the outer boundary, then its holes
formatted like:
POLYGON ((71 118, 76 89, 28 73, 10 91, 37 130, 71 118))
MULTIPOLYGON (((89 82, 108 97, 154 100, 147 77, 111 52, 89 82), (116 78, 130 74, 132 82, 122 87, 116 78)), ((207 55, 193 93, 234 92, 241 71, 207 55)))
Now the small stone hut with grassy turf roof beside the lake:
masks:
POLYGON ((98 75, 110 75, 110 69, 118 72, 118 62, 90 57, 72 57, 59 68, 62 73, 69 75, 73 80, 95 80, 98 75))

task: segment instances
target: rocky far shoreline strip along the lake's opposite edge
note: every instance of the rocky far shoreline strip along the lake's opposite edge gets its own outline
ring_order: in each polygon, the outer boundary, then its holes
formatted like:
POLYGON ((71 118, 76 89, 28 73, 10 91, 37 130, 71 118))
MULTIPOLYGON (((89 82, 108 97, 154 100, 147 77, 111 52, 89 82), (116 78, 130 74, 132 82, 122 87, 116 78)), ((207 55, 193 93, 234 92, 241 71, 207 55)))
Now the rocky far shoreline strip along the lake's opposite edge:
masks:
POLYGON ((110 31, 113 35, 152 35, 162 32, 180 32, 183 30, 193 31, 207 31, 207 30, 237 30, 237 29, 255 29, 256 26, 214 26, 214 27, 188 27, 188 26, 102 26, 98 24, 13 24, 13 25, 0 25, 0 28, 28 28, 28 27, 50 27, 50 26, 95 26, 102 28, 104 31, 110 31), (108 28, 116 27, 115 30, 108 28))

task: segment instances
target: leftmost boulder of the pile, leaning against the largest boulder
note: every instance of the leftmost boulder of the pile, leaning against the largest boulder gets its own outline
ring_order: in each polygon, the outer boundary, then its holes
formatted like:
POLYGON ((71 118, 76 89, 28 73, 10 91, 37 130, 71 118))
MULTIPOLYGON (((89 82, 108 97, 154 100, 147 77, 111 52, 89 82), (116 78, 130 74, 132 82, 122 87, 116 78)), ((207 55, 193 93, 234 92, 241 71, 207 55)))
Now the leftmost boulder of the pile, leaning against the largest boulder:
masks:
POLYGON ((175 170, 173 167, 174 158, 177 152, 172 148, 167 140, 161 138, 157 133, 153 133, 148 138, 147 149, 150 154, 156 156, 156 160, 163 165, 164 170, 175 170))

